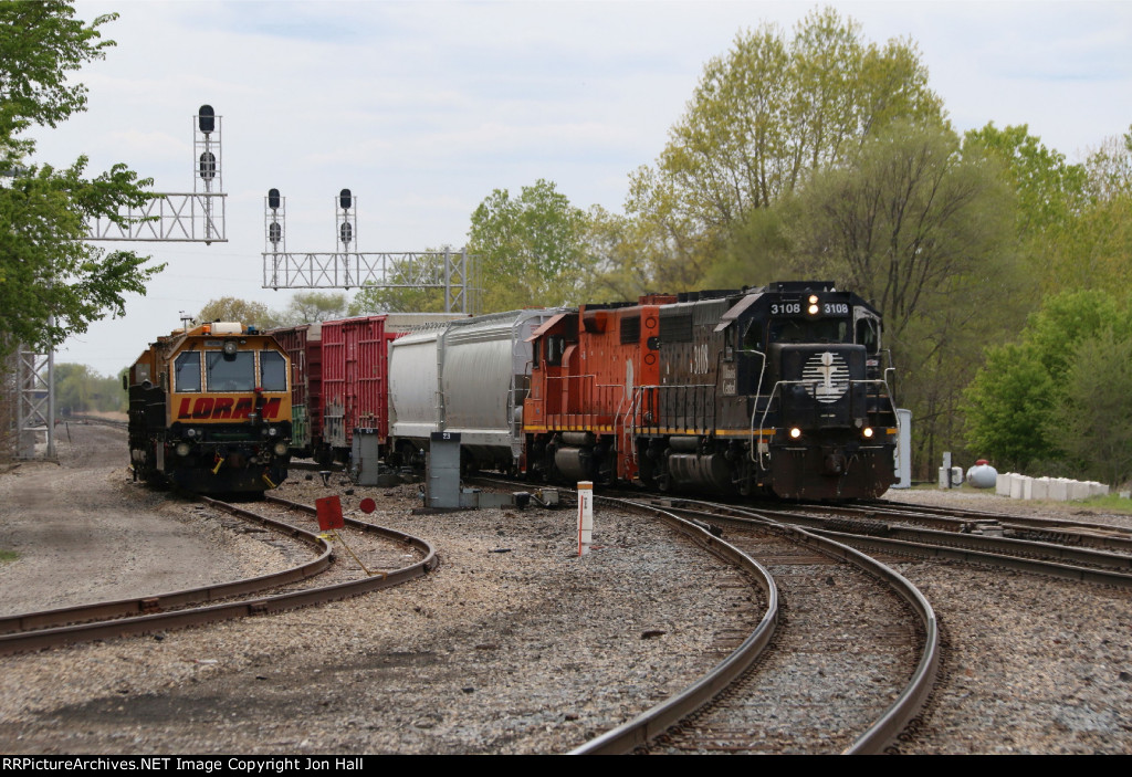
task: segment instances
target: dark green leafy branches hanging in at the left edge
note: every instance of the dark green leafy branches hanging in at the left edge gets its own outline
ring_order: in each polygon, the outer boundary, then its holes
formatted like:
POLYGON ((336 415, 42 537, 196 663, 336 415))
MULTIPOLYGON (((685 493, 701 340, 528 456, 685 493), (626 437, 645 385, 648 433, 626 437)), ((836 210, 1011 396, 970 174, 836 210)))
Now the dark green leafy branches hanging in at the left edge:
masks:
POLYGON ((83 242, 85 222, 140 207, 152 196, 118 164, 85 178, 86 157, 67 170, 28 161, 32 128, 55 127, 85 110, 86 89, 68 71, 105 55, 111 41, 75 19, 69 2, 0 3, 0 355, 18 343, 48 349, 85 331, 108 313, 125 313, 125 294, 145 293, 161 267, 132 251, 106 251, 83 242))

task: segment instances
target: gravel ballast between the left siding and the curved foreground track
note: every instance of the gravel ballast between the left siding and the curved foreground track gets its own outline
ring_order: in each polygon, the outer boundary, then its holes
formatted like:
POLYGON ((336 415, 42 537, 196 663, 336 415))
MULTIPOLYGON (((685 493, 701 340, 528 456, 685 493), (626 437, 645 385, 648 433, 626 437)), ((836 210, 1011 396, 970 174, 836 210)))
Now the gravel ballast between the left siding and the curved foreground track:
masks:
POLYGON ((0 749, 561 752, 683 689, 722 657, 717 634, 753 618, 734 586, 719 594, 728 568, 648 518, 599 509, 600 547, 578 558, 568 509, 411 516, 404 485, 344 495, 346 510, 363 495, 369 520, 429 539, 439 569, 326 606, 2 658, 0 749))

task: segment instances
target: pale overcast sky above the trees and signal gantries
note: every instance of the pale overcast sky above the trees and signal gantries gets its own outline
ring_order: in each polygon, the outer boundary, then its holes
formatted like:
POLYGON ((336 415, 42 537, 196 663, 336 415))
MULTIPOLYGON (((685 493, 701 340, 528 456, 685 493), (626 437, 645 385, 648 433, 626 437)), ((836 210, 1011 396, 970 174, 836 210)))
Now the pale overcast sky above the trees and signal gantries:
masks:
MULTIPOLYGON (((867 41, 910 37, 955 128, 1028 124, 1080 161, 1132 123, 1132 2, 833 2, 867 41)), ((813 2, 80 1, 118 12, 118 42, 78 78, 89 110, 41 130, 37 162, 125 162, 155 190, 192 191, 192 115, 223 118, 226 243, 126 244, 169 264, 125 319, 71 338, 58 362, 104 374, 155 336, 261 288, 264 196, 286 198, 286 247, 334 250, 334 196, 358 197, 362 251, 466 240, 494 189, 556 182, 582 208, 620 210, 704 63, 736 34, 789 32, 813 2)), ((102 243, 113 247, 113 243, 102 243)), ((736 279, 740 283, 741 279, 736 279)))

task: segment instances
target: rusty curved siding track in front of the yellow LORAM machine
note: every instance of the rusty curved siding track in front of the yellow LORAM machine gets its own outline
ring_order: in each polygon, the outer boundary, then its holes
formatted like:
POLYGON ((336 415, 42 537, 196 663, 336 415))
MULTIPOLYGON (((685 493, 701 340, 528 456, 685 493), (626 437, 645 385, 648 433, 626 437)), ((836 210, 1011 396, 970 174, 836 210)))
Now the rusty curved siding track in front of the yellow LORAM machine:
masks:
MULTIPOLYGON (((0 655, 200 623, 261 615, 333 602, 398 585, 436 568, 428 542, 375 524, 346 518, 346 542, 368 556, 369 572, 353 560, 335 561, 326 538, 316 534, 315 508, 272 499, 283 517, 267 517, 214 499, 206 503, 310 546, 314 558, 290 569, 228 584, 153 596, 23 613, 0 618, 0 655), (307 527, 295 526, 305 523, 307 527), (333 571, 332 571, 333 570, 333 571), (325 577, 323 577, 325 576, 325 577), (259 594, 248 598, 248 594, 259 594)), ((338 554, 341 555, 341 554, 338 554)))

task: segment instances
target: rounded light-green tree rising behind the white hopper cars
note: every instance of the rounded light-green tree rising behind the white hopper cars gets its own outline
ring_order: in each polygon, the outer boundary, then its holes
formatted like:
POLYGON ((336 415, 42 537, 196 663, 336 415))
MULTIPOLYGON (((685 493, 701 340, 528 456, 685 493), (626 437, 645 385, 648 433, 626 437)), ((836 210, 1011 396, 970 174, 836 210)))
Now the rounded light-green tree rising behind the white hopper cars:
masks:
POLYGON ((472 214, 469 250, 479 257, 484 312, 576 301, 590 279, 586 215, 550 181, 518 197, 496 189, 472 214))

